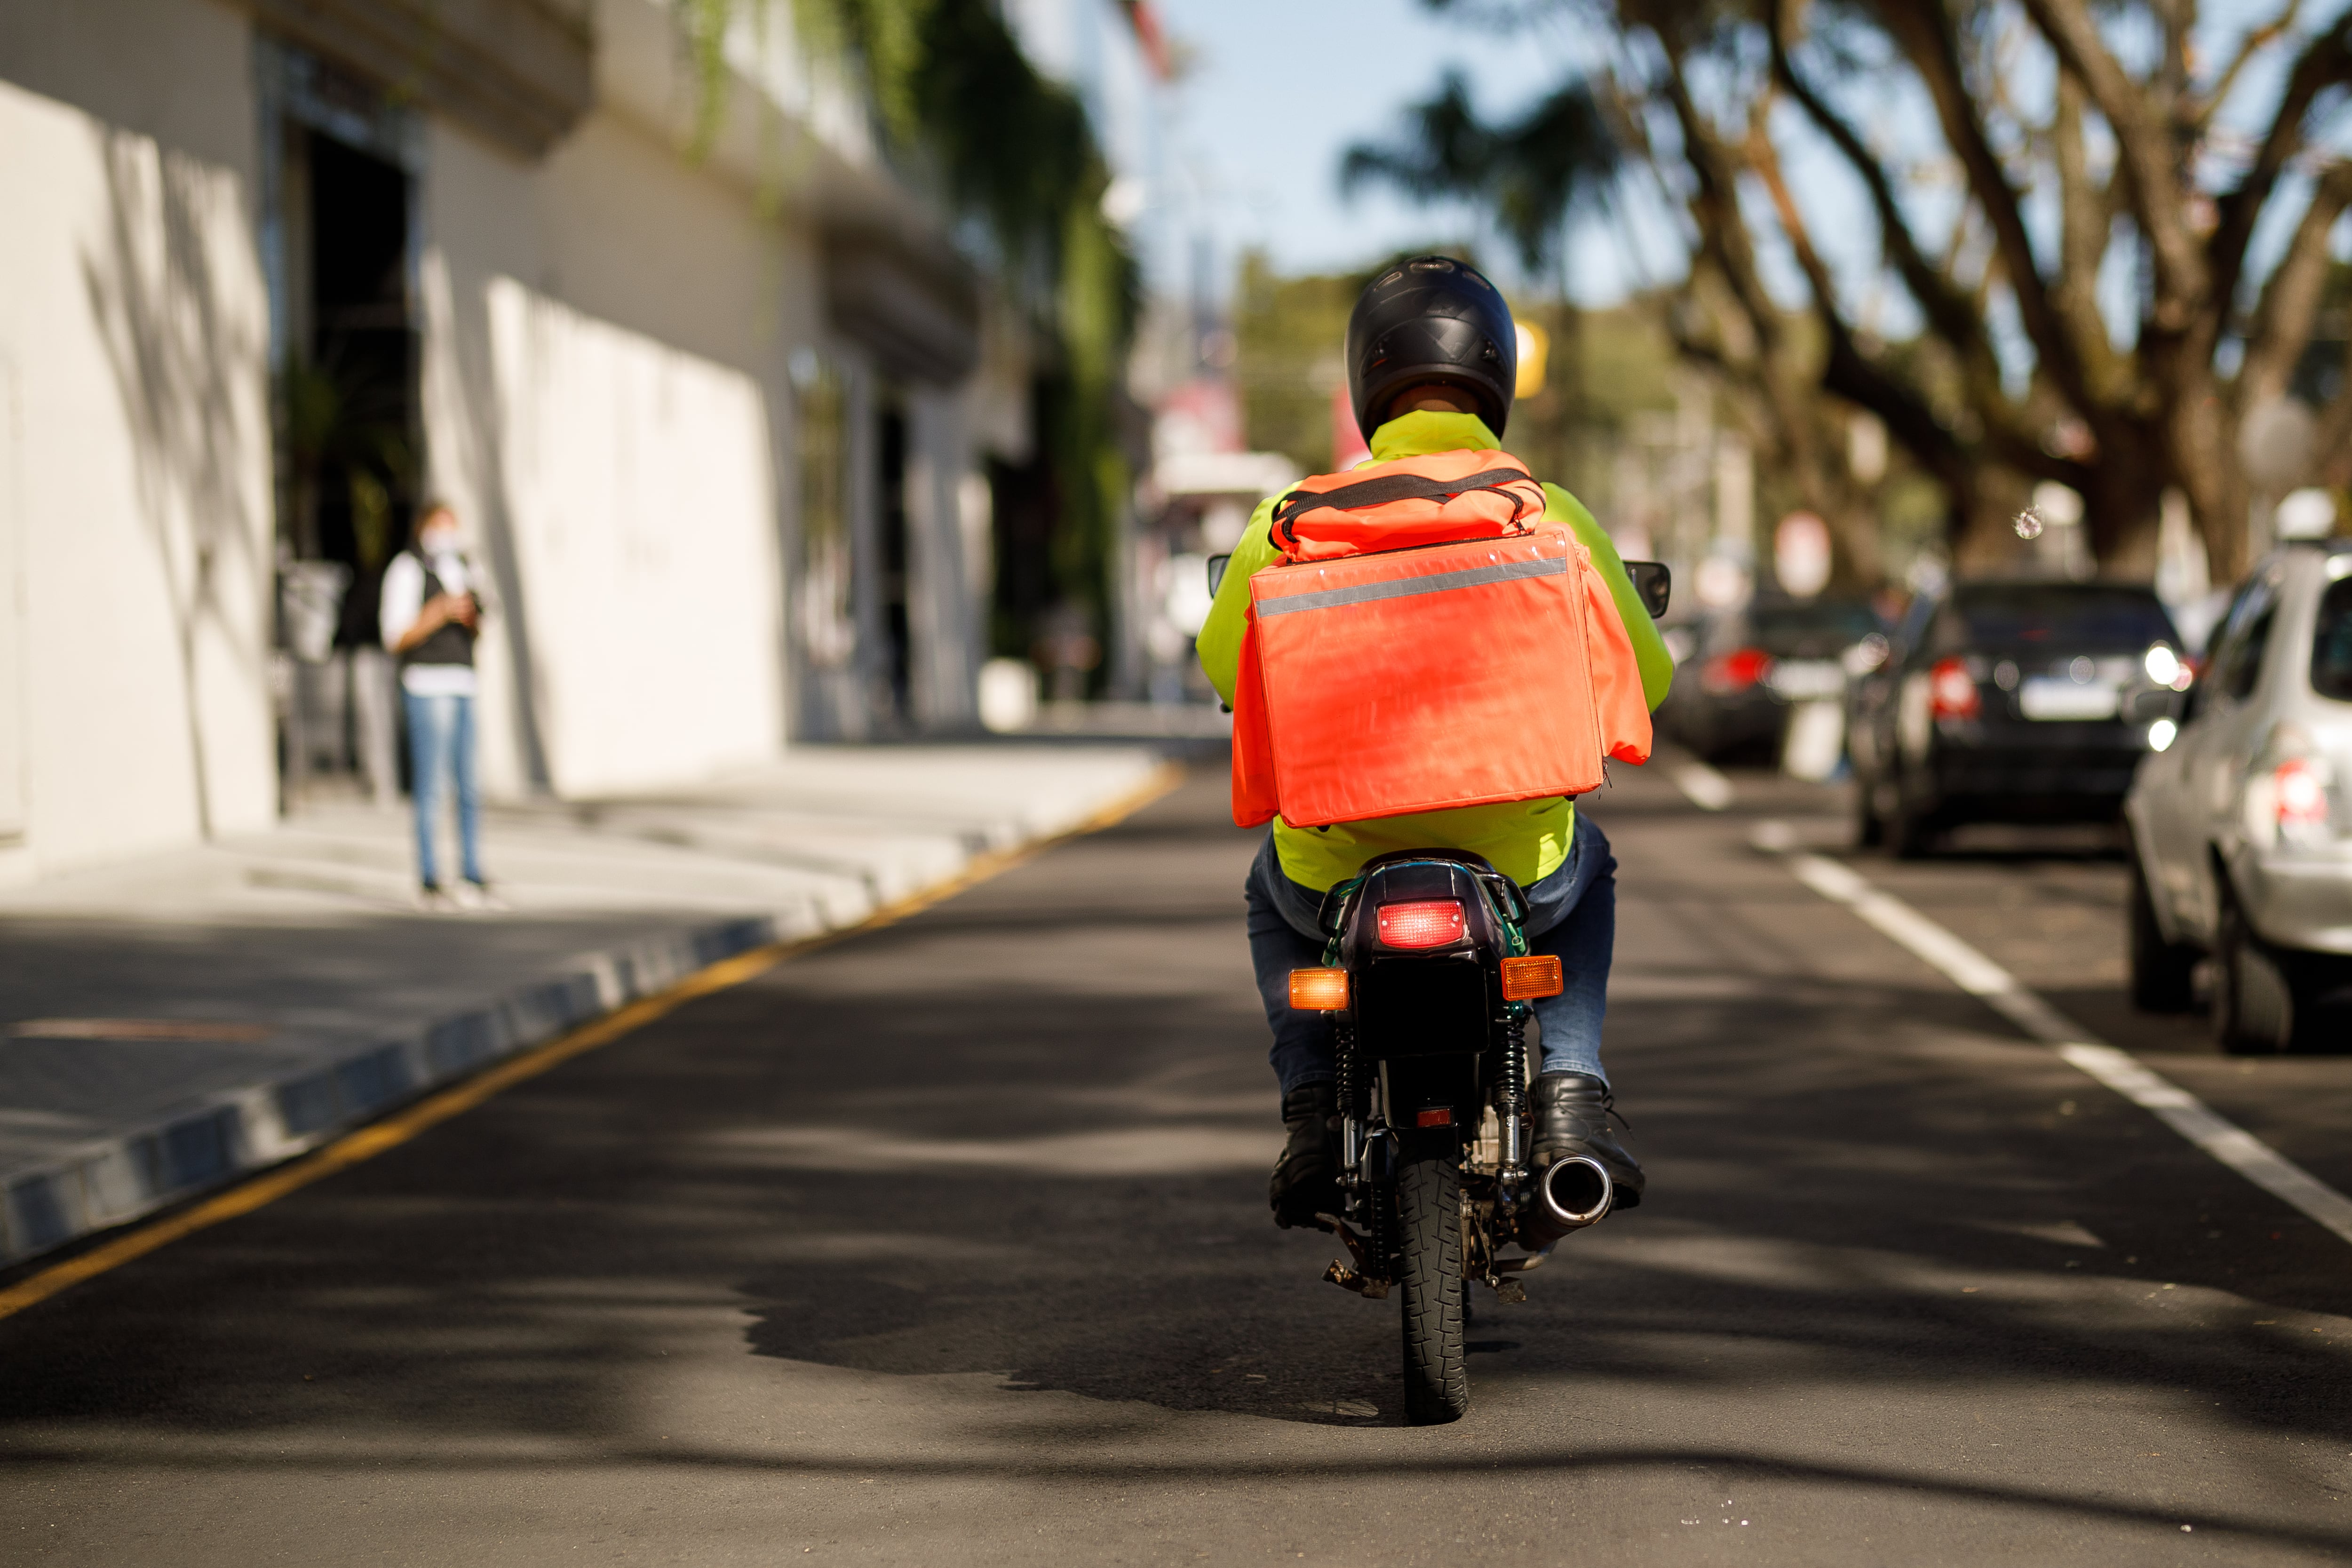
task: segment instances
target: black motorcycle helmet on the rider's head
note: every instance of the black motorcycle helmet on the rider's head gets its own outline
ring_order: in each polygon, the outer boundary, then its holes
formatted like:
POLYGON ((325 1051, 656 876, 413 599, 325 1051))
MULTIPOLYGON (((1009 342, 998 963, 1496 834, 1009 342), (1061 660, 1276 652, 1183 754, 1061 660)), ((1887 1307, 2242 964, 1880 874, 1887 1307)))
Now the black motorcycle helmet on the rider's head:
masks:
POLYGON ((1348 317, 1348 397, 1369 437, 1376 409, 1416 381, 1444 381, 1477 402, 1496 435, 1510 421, 1519 334, 1486 277, 1451 256, 1414 256, 1388 268, 1348 317))

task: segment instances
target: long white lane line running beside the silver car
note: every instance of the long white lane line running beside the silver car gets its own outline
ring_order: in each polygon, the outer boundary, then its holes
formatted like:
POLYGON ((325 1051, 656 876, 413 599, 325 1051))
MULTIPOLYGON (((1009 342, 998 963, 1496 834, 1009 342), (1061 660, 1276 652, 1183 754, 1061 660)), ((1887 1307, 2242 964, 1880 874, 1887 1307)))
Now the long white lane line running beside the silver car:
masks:
POLYGON ((2049 1001, 2025 990, 2013 973, 1987 959, 1983 952, 1959 940, 1919 910, 1893 893, 1870 886, 1851 865, 1839 865, 1825 856, 1799 853, 1797 835, 1788 823, 1757 823, 1750 842, 1766 851, 1788 856, 1788 867, 1797 882, 1806 884, 1830 903, 1842 903, 1865 924, 1884 931, 1903 947, 1940 969, 1959 990, 1983 997, 1992 1011, 2018 1025, 2030 1039, 2051 1046, 2070 1067, 2084 1072, 2133 1105, 2154 1112, 2166 1126, 2192 1145, 2230 1166, 2249 1182, 2272 1197, 2300 1208, 2331 1232, 2352 1241, 2352 1199, 2336 1192, 2324 1180, 2286 1159, 2260 1138, 2218 1114, 2204 1100, 2180 1088, 2171 1079, 2150 1072, 2129 1051, 2091 1039, 2091 1032, 2053 1009, 2049 1001))

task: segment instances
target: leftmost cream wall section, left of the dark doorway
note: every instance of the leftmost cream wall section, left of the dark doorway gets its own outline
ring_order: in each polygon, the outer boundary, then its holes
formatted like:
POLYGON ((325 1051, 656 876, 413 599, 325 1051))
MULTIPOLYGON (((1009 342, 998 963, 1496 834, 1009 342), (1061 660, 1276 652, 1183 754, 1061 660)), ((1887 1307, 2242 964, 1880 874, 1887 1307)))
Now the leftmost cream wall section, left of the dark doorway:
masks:
POLYGON ((0 14, 0 877, 275 811, 249 106, 202 0, 0 14))

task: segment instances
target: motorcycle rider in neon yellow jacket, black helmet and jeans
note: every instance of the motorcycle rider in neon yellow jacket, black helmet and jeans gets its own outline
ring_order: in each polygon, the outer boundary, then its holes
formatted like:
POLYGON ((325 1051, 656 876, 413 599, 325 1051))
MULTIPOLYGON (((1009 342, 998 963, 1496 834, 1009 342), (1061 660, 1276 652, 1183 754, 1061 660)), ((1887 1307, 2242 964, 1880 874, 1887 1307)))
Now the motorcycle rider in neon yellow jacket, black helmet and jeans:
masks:
MULTIPOLYGON (((1371 461, 1439 451, 1498 449, 1517 378, 1517 329, 1501 292, 1449 256, 1414 256, 1385 268, 1348 317, 1348 393, 1369 433, 1371 461)), ((1569 491, 1545 484, 1545 522, 1566 527, 1592 552, 1639 665, 1642 693, 1656 710, 1675 675, 1616 545, 1569 491)), ((1232 550, 1216 602, 1200 632, 1200 663, 1232 703, 1249 609, 1249 578, 1282 559, 1272 541, 1279 496, 1258 503, 1232 550)), ((1465 658, 1477 658, 1468 649, 1465 658)), ((1322 898, 1374 856, 1402 849, 1465 849, 1526 891, 1529 952, 1557 954, 1566 990, 1534 1004, 1543 1067, 1534 1084, 1536 1138, 1529 1166, 1538 1175, 1557 1159, 1585 1154, 1616 1180, 1616 1206, 1642 1201, 1642 1166, 1609 1128, 1613 1098, 1602 1067, 1602 1013, 1616 945, 1616 858, 1602 830, 1566 797, 1456 806, 1331 827, 1291 827, 1279 816, 1249 867, 1249 954, 1272 1025, 1270 1051, 1282 1086, 1289 1140, 1270 1180, 1275 1222, 1315 1225, 1336 1213, 1338 1091, 1331 1027, 1322 1013, 1291 1011, 1289 971, 1324 961, 1317 929, 1322 898)), ((1623 1121, 1623 1117, 1621 1117, 1623 1121)), ((1541 1237, 1548 1239, 1548 1237, 1541 1237)))

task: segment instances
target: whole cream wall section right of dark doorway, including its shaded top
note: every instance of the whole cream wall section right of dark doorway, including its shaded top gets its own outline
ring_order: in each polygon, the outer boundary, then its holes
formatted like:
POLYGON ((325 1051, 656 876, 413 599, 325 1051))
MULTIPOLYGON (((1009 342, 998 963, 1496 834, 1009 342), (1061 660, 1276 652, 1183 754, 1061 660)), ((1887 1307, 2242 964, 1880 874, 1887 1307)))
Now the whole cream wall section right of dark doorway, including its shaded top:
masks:
POLYGON ((501 590, 485 788, 595 795, 786 741, 814 249, 600 108, 527 165, 433 127, 426 433, 501 590))

